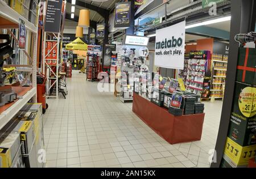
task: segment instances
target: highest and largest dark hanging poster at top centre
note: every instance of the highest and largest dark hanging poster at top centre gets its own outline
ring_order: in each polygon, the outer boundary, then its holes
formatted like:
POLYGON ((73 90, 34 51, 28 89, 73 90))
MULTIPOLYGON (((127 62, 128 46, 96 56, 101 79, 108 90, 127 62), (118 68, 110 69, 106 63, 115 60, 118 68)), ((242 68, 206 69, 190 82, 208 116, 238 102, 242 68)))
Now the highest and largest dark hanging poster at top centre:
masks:
POLYGON ((115 28, 130 27, 131 2, 115 3, 115 28))

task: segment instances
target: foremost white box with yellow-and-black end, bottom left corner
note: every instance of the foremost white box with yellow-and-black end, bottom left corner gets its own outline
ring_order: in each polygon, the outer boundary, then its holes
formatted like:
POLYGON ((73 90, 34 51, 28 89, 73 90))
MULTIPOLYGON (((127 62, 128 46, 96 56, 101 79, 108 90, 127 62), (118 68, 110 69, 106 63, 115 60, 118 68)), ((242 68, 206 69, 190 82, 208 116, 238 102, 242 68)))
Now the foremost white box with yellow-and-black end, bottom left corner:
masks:
MULTIPOLYGON (((20 139, 18 132, 0 132, 0 156, 2 168, 23 167, 20 156, 20 139)), ((0 167, 0 168, 1 168, 0 167)))

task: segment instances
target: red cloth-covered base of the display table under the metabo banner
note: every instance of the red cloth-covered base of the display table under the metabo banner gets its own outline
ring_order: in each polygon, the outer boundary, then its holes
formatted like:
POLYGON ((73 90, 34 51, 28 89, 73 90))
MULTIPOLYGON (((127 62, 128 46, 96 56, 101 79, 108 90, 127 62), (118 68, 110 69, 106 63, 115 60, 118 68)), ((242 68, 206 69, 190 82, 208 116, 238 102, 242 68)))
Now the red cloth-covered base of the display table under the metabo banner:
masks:
POLYGON ((168 143, 201 140, 205 114, 174 116, 134 93, 133 112, 168 143))

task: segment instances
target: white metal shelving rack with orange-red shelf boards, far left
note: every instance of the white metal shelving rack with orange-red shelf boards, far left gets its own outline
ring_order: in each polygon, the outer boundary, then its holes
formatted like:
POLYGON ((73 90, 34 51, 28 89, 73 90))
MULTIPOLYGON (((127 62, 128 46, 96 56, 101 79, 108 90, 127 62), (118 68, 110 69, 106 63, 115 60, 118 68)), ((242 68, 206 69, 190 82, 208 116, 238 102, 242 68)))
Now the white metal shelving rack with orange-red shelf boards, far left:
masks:
MULTIPOLYGON (((18 68, 20 73, 24 73, 24 75, 26 73, 24 81, 31 80, 31 87, 22 87, 22 83, 20 87, 12 87, 12 89, 22 97, 15 100, 13 103, 1 106, 0 129, 2 129, 28 101, 32 99, 36 102, 36 39, 38 36, 38 27, 13 10, 5 1, 0 0, 0 29, 5 29, 6 33, 13 38, 16 44, 18 44, 18 39, 11 29, 19 28, 19 19, 24 20, 26 30, 31 33, 30 42, 32 44, 31 46, 28 45, 27 39, 26 48, 24 50, 18 49, 17 51, 17 53, 19 53, 17 63, 15 65, 6 65, 6 67, 13 66, 18 68), (31 49, 32 53, 28 52, 28 48, 31 49)), ((28 38, 28 36, 26 38, 28 38)))

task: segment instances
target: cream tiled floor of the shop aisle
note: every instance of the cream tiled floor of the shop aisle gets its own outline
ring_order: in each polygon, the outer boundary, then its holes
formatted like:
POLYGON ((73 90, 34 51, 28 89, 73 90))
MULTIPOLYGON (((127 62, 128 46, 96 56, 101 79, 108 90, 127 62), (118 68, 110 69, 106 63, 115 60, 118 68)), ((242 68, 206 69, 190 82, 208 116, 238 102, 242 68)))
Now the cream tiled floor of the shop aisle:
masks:
POLYGON ((171 145, 159 137, 112 92, 73 71, 68 96, 47 100, 44 115, 46 167, 209 167, 221 101, 205 103, 201 141, 171 145))

